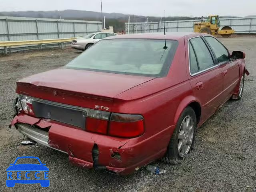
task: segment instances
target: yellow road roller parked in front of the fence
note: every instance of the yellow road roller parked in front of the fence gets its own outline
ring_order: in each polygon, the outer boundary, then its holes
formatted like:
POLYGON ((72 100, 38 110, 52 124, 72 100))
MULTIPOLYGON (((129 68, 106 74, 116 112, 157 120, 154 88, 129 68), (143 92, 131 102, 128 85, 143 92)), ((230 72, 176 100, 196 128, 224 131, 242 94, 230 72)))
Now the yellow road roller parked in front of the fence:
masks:
POLYGON ((203 18, 203 16, 200 18, 200 23, 194 24, 194 32, 212 35, 220 34, 222 37, 229 37, 231 34, 234 34, 234 30, 230 26, 224 26, 220 30, 220 18, 218 15, 210 15, 206 21, 203 21, 203 18))

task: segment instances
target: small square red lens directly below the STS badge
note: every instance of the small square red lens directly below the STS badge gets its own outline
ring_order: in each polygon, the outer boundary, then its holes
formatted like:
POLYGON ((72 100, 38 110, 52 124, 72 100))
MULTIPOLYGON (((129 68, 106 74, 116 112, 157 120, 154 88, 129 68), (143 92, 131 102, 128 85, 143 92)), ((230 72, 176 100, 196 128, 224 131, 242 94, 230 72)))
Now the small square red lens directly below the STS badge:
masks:
POLYGON ((107 134, 108 120, 86 117, 86 131, 107 134))

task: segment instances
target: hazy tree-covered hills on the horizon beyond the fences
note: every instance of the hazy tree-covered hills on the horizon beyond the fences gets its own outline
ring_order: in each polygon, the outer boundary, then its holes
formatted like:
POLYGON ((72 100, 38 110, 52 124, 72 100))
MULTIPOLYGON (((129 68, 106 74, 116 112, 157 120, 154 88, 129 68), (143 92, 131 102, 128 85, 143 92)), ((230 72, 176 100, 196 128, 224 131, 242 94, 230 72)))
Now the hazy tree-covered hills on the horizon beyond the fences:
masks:
MULTIPOLYGON (((14 17, 34 17, 34 18, 61 18, 73 19, 73 20, 102 20, 101 12, 94 11, 82 11, 82 10, 54 10, 54 11, 12 11, 12 12, 0 12, 0 16, 14 16, 14 17)), ((128 16, 130 16, 130 22, 145 22, 146 16, 140 15, 128 15, 122 13, 103 13, 106 18, 106 26, 114 26, 116 32, 120 32, 125 28, 125 22, 128 16)), ((221 18, 231 18, 234 16, 221 16, 221 18)), ((147 16, 148 22, 158 22, 160 17, 147 16)), ((166 21, 173 20, 192 20, 198 19, 198 17, 188 16, 172 16, 165 18, 166 21)))

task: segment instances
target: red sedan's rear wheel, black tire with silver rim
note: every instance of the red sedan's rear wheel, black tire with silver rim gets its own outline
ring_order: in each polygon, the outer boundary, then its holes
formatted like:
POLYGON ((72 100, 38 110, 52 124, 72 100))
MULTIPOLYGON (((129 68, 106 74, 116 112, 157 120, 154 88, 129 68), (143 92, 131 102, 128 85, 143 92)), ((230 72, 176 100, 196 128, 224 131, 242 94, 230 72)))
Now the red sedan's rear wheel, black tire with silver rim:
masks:
POLYGON ((187 107, 177 122, 166 154, 161 160, 168 164, 180 163, 194 144, 195 129, 196 114, 191 107, 187 107))

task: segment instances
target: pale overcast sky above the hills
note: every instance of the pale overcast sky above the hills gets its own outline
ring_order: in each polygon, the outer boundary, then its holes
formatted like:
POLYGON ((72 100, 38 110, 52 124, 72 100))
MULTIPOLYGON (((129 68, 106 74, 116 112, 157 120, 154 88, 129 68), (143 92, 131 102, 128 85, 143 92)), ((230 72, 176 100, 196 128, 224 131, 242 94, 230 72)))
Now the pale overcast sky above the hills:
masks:
MULTIPOLYGON (((256 0, 102 0, 103 12, 144 16, 256 15, 256 0)), ((100 12, 100 0, 0 0, 0 11, 87 10, 100 12)))

